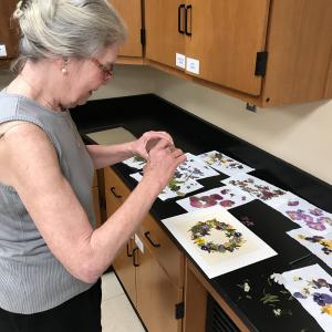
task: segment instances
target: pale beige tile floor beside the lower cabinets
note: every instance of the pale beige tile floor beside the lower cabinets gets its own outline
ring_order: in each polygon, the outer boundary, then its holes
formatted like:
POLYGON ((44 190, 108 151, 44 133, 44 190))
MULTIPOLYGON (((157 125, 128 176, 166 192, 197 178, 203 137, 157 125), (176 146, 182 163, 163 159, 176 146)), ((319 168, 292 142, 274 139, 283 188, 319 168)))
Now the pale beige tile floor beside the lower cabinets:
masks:
POLYGON ((103 332, 144 332, 131 302, 113 272, 102 277, 103 332))

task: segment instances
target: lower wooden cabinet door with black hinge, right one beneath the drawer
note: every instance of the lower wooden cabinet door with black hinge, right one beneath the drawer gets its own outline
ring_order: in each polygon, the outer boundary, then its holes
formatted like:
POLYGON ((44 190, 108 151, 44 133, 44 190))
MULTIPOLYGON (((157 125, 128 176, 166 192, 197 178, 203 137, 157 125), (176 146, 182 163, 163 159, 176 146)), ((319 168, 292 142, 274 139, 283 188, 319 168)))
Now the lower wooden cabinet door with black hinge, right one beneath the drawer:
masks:
POLYGON ((183 301, 183 289, 173 286, 170 278, 144 246, 138 250, 136 269, 137 311, 151 332, 181 331, 176 319, 176 304, 183 301))

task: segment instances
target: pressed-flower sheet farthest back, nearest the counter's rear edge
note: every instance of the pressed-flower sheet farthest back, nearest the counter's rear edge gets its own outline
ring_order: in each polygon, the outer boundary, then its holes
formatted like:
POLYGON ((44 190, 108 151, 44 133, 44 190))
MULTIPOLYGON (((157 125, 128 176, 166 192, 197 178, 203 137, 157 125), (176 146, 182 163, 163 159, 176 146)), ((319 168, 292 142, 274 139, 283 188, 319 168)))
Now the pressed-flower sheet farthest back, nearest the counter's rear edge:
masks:
POLYGON ((201 158, 207 165, 229 176, 238 173, 249 173, 255 170, 253 168, 217 151, 201 154, 198 157, 201 158))

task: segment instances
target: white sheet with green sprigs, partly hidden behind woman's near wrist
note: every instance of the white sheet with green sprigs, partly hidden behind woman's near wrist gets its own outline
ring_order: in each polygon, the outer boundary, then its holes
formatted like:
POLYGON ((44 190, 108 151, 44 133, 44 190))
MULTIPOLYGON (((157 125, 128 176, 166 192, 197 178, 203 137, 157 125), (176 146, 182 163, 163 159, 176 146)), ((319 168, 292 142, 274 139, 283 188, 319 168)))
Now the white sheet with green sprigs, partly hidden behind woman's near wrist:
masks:
MULTIPOLYGON (((142 180, 142 174, 139 172, 131 174, 131 177, 136 179, 138 183, 142 180)), ((173 177, 168 185, 163 189, 163 191, 158 195, 158 198, 162 200, 166 200, 174 197, 181 197, 188 193, 193 193, 203 188, 203 185, 193 180, 190 178, 187 179, 177 179, 173 177)))

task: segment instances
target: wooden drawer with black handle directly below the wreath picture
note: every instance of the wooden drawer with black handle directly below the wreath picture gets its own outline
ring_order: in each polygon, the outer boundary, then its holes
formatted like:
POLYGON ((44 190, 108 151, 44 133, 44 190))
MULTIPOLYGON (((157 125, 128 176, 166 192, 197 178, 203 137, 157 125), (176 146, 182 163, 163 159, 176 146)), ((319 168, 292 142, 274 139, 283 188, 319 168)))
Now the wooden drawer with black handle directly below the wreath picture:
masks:
POLYGON ((172 242, 155 219, 147 215, 138 230, 144 243, 148 246, 159 264, 176 287, 184 284, 184 255, 172 242))

